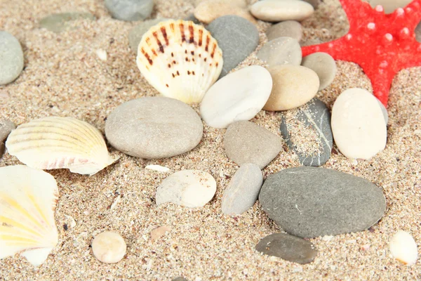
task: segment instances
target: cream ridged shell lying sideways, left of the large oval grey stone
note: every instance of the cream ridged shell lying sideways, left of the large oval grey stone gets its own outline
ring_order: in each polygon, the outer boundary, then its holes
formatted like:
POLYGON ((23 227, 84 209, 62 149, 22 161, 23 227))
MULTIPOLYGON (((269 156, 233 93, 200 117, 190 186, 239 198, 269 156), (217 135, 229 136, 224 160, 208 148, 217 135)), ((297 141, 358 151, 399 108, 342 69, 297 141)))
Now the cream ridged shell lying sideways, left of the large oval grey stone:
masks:
POLYGON ((98 129, 72 117, 46 117, 18 126, 6 141, 9 154, 36 169, 70 169, 93 175, 118 158, 109 155, 98 129))

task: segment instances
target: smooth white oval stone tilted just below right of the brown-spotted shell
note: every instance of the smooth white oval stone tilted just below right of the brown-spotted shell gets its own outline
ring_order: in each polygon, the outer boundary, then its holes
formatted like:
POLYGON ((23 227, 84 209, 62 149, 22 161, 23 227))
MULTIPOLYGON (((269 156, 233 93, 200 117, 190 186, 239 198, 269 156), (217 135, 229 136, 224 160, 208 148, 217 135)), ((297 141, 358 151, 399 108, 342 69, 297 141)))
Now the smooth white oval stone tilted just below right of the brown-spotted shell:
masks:
POLYGON ((271 91, 272 77, 265 67, 244 67, 210 87, 201 102, 201 117, 214 128, 250 120, 262 110, 271 91))

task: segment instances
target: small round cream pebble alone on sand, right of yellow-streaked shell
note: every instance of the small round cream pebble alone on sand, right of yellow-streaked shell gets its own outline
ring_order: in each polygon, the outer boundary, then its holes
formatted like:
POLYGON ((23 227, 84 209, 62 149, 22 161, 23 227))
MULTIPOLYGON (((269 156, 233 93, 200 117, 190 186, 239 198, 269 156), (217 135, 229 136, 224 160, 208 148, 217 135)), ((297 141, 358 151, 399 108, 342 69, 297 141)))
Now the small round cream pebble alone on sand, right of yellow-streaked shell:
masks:
POLYGON ((105 231, 93 239, 92 251, 102 263, 118 263, 126 254, 126 242, 119 233, 105 231))

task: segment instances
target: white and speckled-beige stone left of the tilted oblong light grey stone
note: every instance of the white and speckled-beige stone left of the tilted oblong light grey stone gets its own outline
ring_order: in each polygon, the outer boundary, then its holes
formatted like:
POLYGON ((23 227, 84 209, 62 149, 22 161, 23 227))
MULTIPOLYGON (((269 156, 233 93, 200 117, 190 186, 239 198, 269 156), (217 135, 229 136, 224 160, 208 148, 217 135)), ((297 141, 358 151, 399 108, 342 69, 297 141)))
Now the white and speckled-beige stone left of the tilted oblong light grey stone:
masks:
POLYGON ((189 208, 203 207, 212 200, 216 181, 199 170, 178 171, 164 179, 156 190, 156 204, 171 202, 189 208))

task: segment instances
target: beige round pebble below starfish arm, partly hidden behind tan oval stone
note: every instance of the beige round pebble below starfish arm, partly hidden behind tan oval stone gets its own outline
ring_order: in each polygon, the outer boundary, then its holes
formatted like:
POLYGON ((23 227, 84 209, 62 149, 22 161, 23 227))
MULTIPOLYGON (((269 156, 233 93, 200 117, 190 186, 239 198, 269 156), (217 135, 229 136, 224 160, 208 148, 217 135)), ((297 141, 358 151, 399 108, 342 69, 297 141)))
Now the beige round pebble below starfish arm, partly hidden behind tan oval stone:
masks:
POLYGON ((302 66, 314 70, 319 76, 319 91, 329 86, 336 75, 335 60, 328 53, 312 53, 302 58, 302 66))

